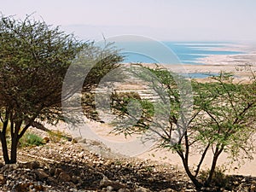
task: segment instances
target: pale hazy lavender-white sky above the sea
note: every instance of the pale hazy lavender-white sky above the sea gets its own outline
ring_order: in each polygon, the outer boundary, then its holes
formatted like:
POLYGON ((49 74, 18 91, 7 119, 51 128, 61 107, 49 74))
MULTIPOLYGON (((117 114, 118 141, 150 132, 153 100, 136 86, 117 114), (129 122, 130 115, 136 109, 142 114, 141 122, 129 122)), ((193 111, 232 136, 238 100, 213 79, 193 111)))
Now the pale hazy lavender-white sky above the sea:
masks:
POLYGON ((256 41, 255 0, 0 0, 3 15, 32 13, 78 38, 132 34, 170 41, 256 41))

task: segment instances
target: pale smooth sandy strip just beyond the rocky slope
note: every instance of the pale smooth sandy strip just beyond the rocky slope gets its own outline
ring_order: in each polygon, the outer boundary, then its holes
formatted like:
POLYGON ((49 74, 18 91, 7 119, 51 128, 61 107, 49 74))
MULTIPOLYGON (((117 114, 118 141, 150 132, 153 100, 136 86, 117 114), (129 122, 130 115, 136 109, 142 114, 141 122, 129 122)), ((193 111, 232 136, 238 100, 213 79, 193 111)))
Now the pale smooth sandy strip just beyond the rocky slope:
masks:
MULTIPOLYGON (((78 128, 71 129, 70 125, 64 123, 61 123, 56 127, 49 125, 48 127, 54 130, 65 131, 73 137, 83 137, 104 143, 104 146, 106 145, 108 148, 111 148, 114 153, 137 157, 143 160, 154 160, 163 164, 170 163, 173 166, 183 169, 182 161, 177 154, 174 154, 171 151, 154 149, 152 143, 145 146, 137 136, 125 138, 123 135, 110 133, 110 131, 112 131, 112 127, 108 124, 101 124, 95 121, 90 121, 89 119, 85 120, 84 124, 86 125, 80 126, 80 130, 78 128), (90 132, 95 134, 95 136, 91 135, 90 132)), ((97 150, 97 148, 90 148, 90 150, 97 150)), ((99 151, 96 151, 96 153, 99 153, 99 151)), ((200 157, 200 154, 194 153, 189 159, 190 166, 196 166, 200 157)), ((211 160, 210 152, 204 160, 202 167, 206 169, 209 168, 211 160)), ((253 154, 253 160, 245 159, 242 164, 241 161, 235 161, 233 164, 230 164, 228 154, 221 154, 218 159, 218 166, 224 167, 227 174, 256 177, 256 154, 253 154)))

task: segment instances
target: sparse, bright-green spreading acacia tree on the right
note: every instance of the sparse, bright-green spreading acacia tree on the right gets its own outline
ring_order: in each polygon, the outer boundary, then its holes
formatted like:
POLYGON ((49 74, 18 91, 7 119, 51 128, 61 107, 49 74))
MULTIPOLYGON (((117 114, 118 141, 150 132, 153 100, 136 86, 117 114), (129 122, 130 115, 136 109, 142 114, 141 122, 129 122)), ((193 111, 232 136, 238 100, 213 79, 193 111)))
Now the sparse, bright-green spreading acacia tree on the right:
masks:
MULTIPOLYGON (((132 127, 116 125, 113 131, 125 134, 147 130, 156 132, 154 140, 158 142, 157 148, 172 149, 178 154, 185 171, 197 189, 212 184, 212 177, 214 177, 220 154, 226 152, 232 158, 237 158, 240 154, 251 156, 253 143, 250 138, 255 133, 256 117, 255 77, 247 84, 234 83, 232 76, 226 73, 220 73, 218 77, 212 77, 209 83, 192 81, 193 110, 189 119, 183 121, 180 119, 186 119, 187 117, 185 117, 186 111, 181 110, 183 108, 181 91, 178 89, 177 80, 175 80, 177 78, 173 78, 176 74, 160 67, 147 68, 147 70, 154 74, 159 81, 159 84, 151 84, 151 88, 166 91, 166 97, 168 97, 167 100, 170 103, 169 111, 167 112, 167 108, 161 107, 166 105, 166 102, 162 102, 166 99, 162 95, 160 96, 160 102, 156 101, 150 108, 145 108, 142 105, 143 113, 140 119, 137 120, 136 125, 132 127), (159 113, 160 116, 168 113, 168 121, 155 121, 153 119, 155 113, 159 113), (177 143, 172 143, 173 131, 181 128, 184 130, 183 135, 177 143), (158 137, 155 138, 155 136, 158 137), (192 166, 189 165, 189 157, 195 152, 201 154, 201 159, 197 166, 192 166), (209 153, 212 153, 210 171, 206 178, 201 179, 201 165, 209 153)), ((137 73, 137 71, 133 71, 133 74, 150 82, 148 74, 137 73)), ((186 79, 183 80, 183 82, 186 82, 186 79)), ((187 98, 190 99, 191 97, 188 95, 187 98)), ((124 96, 119 96, 119 94, 113 96, 113 112, 118 113, 119 118, 135 119, 133 113, 128 113, 125 106, 129 103, 127 98, 125 97, 125 102, 123 99, 124 96)), ((136 98, 131 96, 130 99, 134 100, 136 98)), ((140 103, 143 102, 140 101, 140 103)), ((134 108, 134 110, 137 110, 137 108, 134 108)), ((152 139, 152 137, 148 138, 152 139)))

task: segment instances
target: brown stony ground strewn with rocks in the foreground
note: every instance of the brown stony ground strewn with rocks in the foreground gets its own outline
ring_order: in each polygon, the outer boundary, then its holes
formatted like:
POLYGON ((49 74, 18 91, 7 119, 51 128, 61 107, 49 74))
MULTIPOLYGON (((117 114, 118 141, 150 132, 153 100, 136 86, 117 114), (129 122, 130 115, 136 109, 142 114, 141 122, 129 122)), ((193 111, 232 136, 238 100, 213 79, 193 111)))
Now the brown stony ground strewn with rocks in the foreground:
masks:
MULTIPOLYGON (((20 148, 17 164, 0 163, 0 191, 196 191, 176 166, 107 156, 108 148, 98 154, 86 147, 98 143, 79 138, 46 140, 43 146, 20 148)), ((232 176, 225 188, 202 191, 253 192, 256 178, 232 176)))

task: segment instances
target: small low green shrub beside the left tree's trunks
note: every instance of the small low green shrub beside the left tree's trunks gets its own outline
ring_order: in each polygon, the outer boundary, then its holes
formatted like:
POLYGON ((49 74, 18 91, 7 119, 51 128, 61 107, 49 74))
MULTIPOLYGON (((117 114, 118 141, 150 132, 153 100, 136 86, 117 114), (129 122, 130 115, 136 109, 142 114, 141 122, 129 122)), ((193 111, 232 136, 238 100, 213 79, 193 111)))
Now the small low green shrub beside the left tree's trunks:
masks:
POLYGON ((20 148, 44 145, 44 138, 34 133, 27 132, 20 138, 20 148))

